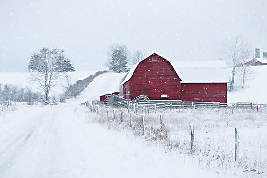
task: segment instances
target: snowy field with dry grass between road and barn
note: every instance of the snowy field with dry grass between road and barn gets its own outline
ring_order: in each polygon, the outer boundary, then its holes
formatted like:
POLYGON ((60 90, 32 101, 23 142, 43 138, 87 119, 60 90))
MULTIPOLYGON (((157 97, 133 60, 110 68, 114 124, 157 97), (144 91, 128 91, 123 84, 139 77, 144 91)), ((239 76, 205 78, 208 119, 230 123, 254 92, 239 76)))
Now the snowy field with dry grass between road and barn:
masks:
POLYGON ((145 131, 142 116, 127 109, 91 105, 86 111, 89 122, 104 124, 118 131, 131 131, 150 144, 164 146, 167 152, 178 152, 184 156, 184 162, 189 161, 216 174, 230 173, 241 177, 267 175, 265 110, 167 109, 144 114, 145 131), (194 125, 192 149, 189 125, 194 125), (239 129, 237 161, 235 128, 239 129))

